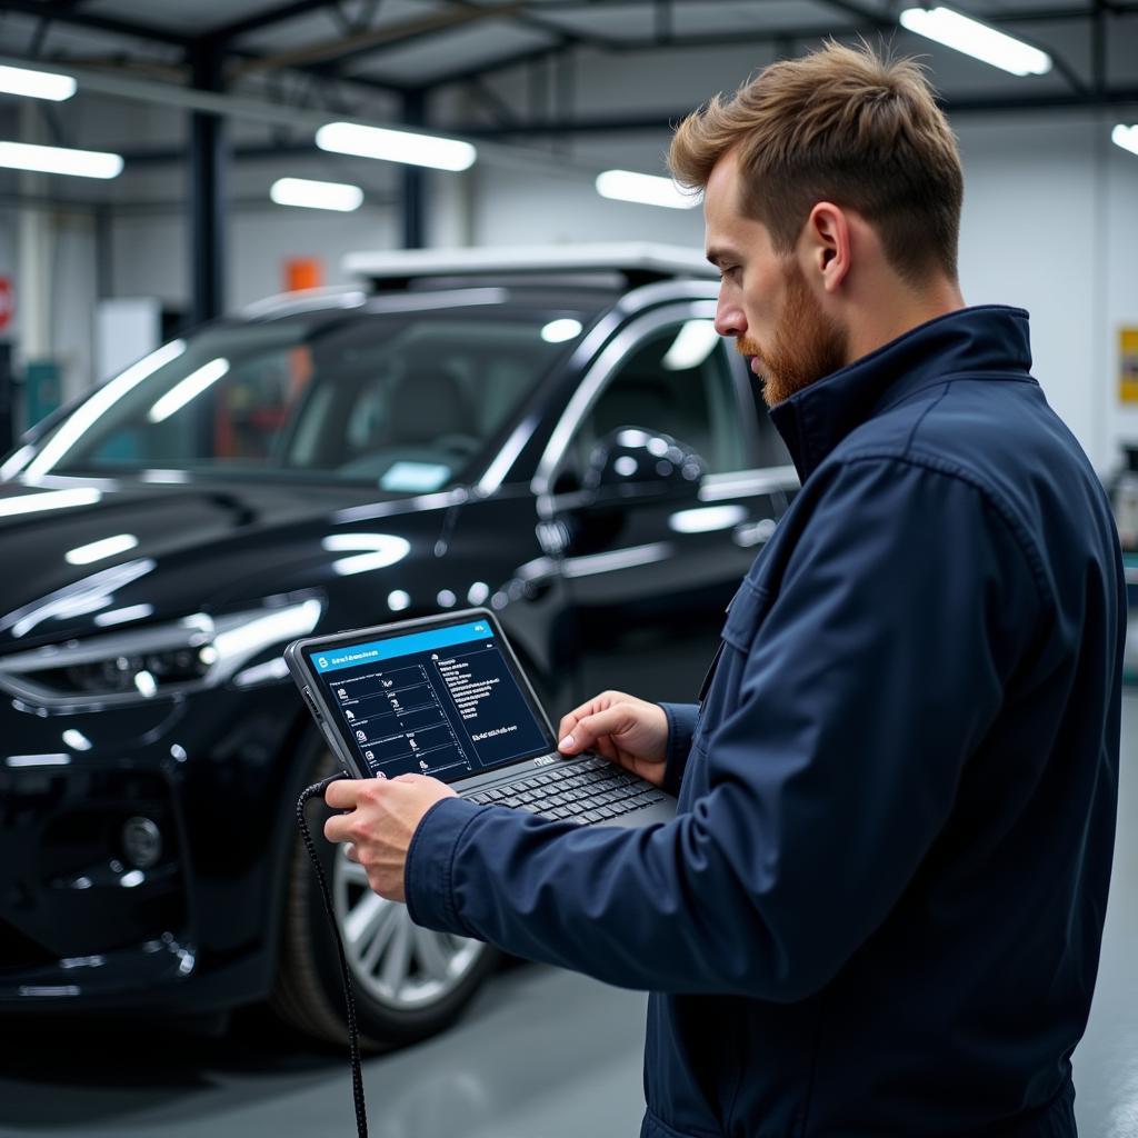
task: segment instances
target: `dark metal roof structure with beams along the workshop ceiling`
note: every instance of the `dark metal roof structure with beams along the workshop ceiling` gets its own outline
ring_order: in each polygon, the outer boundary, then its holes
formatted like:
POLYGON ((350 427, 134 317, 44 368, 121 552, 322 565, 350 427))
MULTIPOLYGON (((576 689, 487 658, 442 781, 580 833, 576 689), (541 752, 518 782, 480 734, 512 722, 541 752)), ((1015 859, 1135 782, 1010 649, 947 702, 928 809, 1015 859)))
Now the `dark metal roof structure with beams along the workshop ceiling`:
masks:
POLYGON ((884 36, 902 53, 926 55, 951 113, 1138 104, 1135 0, 956 5, 1055 59, 1052 74, 1028 83, 992 72, 979 84, 967 71, 955 82, 953 52, 899 28, 898 13, 910 2, 3 0, 0 52, 214 91, 256 88, 294 105, 331 107, 349 91, 378 92, 394 96, 409 122, 422 117, 426 96, 465 88, 484 114, 446 129, 484 138, 650 130, 691 109, 679 102, 635 114, 526 114, 487 85, 508 73, 563 67, 589 53, 629 61, 717 48, 792 55, 827 35, 884 36))

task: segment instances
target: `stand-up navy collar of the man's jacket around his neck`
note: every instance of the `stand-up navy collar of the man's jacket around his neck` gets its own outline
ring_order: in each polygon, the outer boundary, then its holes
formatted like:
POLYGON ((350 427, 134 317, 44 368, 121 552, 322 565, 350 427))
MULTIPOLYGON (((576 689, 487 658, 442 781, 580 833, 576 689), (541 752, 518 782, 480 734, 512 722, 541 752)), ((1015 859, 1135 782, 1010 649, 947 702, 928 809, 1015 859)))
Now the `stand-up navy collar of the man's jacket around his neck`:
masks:
POLYGON ((963 372, 1031 369, 1028 313, 1004 305, 959 308, 910 329, 770 409, 799 478, 855 428, 912 393, 963 372))

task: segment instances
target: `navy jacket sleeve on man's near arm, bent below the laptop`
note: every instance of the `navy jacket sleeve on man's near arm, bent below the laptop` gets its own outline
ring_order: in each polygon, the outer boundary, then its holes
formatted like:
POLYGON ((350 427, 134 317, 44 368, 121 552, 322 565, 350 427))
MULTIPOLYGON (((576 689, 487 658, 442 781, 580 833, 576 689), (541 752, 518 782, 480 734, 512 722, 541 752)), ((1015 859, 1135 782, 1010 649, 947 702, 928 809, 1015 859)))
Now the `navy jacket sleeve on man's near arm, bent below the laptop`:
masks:
POLYGON ((964 478, 824 473, 720 665, 686 776, 707 764, 706 792, 645 830, 440 802, 409 855, 414 921, 657 991, 792 1000, 838 972, 943 827, 1044 602, 1014 518, 964 478))

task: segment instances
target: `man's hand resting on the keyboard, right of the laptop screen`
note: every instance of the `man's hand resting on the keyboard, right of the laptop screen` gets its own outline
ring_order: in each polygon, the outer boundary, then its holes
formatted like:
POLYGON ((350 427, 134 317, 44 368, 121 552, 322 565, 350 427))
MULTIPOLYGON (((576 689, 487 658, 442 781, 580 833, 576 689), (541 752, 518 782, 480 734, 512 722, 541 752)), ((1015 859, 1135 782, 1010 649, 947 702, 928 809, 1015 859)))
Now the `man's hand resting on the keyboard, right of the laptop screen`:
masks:
POLYGON ((657 703, 624 692, 601 692, 561 720, 558 737, 562 754, 592 748, 653 785, 663 785, 668 717, 657 703))

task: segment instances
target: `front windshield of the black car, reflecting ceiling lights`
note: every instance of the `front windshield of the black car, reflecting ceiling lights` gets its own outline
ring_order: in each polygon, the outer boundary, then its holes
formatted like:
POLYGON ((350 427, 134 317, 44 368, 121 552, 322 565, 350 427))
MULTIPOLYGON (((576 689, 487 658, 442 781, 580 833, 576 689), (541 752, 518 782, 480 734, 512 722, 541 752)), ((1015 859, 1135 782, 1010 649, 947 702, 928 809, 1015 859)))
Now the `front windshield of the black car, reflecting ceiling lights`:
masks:
POLYGON ((24 473, 442 489, 493 456, 585 319, 496 305, 218 324, 108 380, 39 443, 24 473))

